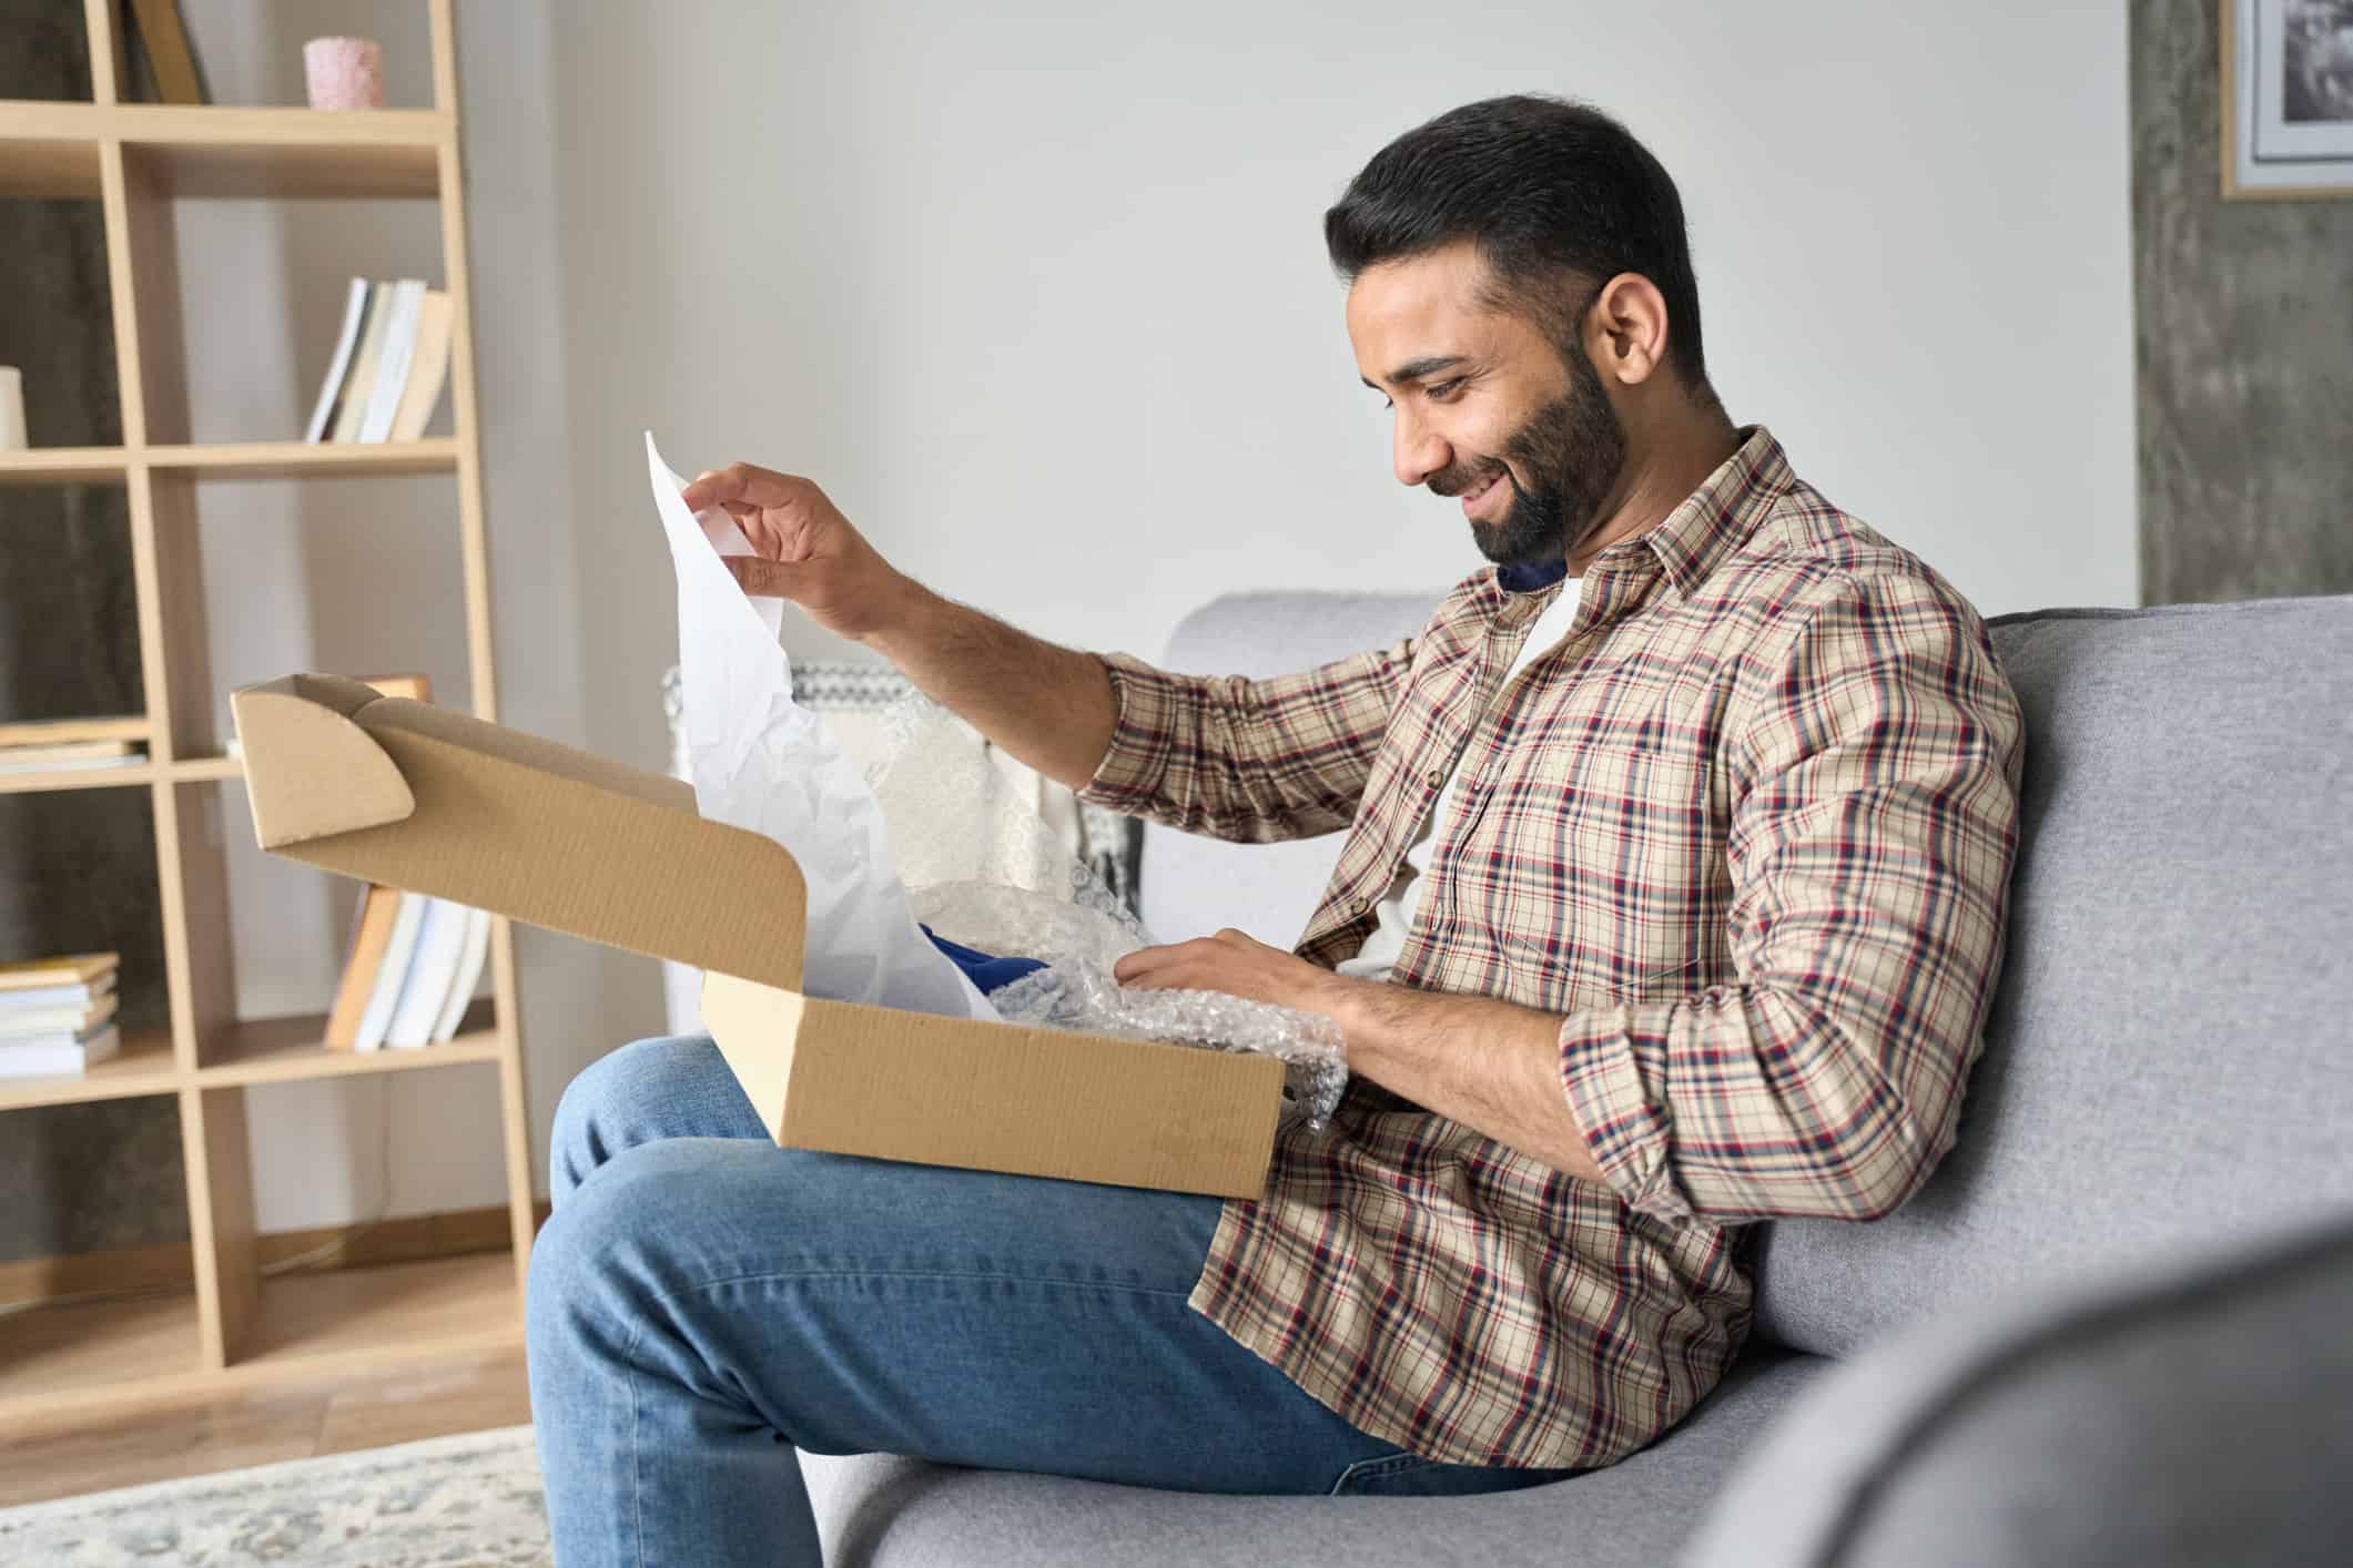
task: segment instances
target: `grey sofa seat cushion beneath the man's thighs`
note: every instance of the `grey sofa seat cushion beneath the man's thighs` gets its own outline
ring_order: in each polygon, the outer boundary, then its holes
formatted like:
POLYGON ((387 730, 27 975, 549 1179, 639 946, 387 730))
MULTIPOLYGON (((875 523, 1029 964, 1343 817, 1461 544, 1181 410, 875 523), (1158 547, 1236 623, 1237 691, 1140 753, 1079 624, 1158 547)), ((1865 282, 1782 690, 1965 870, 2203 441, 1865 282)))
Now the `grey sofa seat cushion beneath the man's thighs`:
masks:
POLYGON ((1826 1363, 1744 1361, 1678 1429, 1586 1476, 1478 1497, 1233 1497, 892 1455, 802 1455, 838 1568, 1494 1568, 1664 1563, 1767 1420, 1826 1363))

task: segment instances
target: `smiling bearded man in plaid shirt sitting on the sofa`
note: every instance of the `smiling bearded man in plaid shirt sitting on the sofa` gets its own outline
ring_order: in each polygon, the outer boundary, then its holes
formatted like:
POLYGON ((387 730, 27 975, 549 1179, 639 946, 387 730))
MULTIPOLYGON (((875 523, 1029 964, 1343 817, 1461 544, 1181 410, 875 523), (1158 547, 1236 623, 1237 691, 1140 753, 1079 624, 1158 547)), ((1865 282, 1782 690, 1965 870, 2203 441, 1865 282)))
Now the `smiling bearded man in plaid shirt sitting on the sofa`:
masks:
POLYGON ((1725 418, 1614 120, 1447 113, 1325 237, 1398 480, 1494 562, 1391 649, 1167 675, 927 592, 807 480, 687 501, 748 592, 1089 799, 1346 827, 1294 952, 1118 973, 1332 1016, 1348 1100, 1219 1204, 776 1150, 708 1039, 614 1053, 532 1262, 562 1561, 814 1563, 793 1448, 1247 1493, 1609 1465, 1739 1352, 1744 1220, 1882 1215, 1951 1145, 2017 846, 1977 611, 1725 418))

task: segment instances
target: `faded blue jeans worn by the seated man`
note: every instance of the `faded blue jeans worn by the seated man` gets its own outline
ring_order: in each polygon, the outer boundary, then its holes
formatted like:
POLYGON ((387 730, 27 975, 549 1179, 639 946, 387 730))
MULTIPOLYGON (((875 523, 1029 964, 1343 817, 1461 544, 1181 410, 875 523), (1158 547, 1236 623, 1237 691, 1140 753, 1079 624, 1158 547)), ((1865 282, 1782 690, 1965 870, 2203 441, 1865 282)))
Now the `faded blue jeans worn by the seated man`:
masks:
POLYGON ((555 1112, 529 1366, 555 1556, 819 1563, 795 1450, 1202 1493, 1438 1495, 1565 1469, 1358 1432, 1186 1298, 1219 1201, 779 1150, 708 1037, 555 1112))

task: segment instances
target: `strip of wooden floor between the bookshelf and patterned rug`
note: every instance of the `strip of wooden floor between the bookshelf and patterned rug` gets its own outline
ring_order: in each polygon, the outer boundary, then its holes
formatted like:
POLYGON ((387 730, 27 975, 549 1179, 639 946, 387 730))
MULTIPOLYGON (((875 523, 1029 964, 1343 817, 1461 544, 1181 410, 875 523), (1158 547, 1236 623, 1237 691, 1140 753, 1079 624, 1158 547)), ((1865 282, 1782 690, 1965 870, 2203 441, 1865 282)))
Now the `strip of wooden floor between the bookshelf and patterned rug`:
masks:
POLYGON ((45 1415, 0 1432, 0 1507, 532 1420, 522 1352, 473 1352, 167 1410, 45 1415))

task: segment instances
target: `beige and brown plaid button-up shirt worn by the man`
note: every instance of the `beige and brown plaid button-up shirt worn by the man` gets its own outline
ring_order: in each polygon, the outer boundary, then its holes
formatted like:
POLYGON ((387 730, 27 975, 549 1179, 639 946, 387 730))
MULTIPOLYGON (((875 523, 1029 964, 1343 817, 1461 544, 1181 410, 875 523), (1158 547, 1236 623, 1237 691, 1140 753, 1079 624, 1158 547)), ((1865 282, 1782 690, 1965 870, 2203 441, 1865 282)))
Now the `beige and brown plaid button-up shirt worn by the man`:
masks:
POLYGON ((1607 1465, 1682 1420, 1748 1331, 1744 1222, 1882 1215, 1951 1147, 2002 961, 2021 715, 1934 569, 1758 428, 1497 691, 1558 583, 1480 571, 1419 637, 1280 679, 1111 654, 1085 790, 1224 839, 1346 827, 1299 940, 1337 964, 1461 769, 1391 980, 1560 1013, 1607 1187, 1358 1079, 1226 1204, 1191 1298, 1445 1462, 1607 1465))

